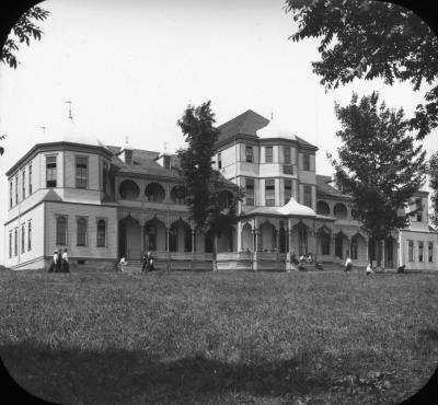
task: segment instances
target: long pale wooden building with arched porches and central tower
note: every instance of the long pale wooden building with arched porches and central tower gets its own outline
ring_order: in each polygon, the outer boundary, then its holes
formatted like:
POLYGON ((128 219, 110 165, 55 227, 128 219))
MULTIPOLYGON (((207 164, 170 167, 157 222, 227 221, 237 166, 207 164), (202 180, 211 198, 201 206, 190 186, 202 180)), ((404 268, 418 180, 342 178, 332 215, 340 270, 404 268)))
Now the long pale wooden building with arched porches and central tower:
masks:
MULTIPOLYGON (((228 181, 226 207, 239 186, 239 221, 217 241, 218 269, 287 269, 311 253, 325 264, 366 266, 377 246, 351 216, 348 196, 316 174, 318 148, 247 111, 219 127, 216 166, 228 181)), ((157 267, 211 269, 214 239, 198 232, 185 205, 175 155, 105 146, 72 123, 58 139, 37 143, 8 172, 5 266, 47 267, 55 248, 72 266, 114 269, 151 251, 157 267)), ((408 229, 382 243, 383 265, 438 269, 438 238, 428 225, 428 195, 408 229)))

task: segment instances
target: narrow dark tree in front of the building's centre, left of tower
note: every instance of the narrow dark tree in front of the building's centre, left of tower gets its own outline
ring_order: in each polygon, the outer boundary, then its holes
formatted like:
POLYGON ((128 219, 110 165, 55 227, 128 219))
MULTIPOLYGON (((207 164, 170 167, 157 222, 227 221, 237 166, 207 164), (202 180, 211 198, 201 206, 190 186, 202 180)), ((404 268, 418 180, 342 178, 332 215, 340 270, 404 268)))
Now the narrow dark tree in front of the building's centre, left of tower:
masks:
POLYGON ((196 229, 215 238, 216 266, 217 236, 229 231, 237 222, 241 194, 237 187, 230 188, 230 184, 212 167, 214 147, 219 136, 219 130, 214 124, 215 115, 209 101, 198 107, 188 105, 177 121, 188 146, 178 150, 177 155, 187 187, 191 219, 196 229), (222 206, 219 198, 219 193, 224 188, 233 194, 228 207, 222 206))

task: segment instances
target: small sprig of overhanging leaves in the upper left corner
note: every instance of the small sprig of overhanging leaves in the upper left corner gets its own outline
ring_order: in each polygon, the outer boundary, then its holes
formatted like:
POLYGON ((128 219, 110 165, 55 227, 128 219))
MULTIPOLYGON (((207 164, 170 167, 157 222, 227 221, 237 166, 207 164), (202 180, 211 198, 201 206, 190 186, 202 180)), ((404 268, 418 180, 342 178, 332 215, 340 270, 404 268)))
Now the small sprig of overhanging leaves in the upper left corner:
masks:
POLYGON ((12 27, 12 35, 9 35, 3 48, 1 49, 0 61, 16 69, 18 63, 15 53, 19 50, 19 43, 31 44, 31 39, 39 40, 43 31, 36 25, 38 21, 47 19, 49 11, 39 7, 33 7, 25 11, 12 27))

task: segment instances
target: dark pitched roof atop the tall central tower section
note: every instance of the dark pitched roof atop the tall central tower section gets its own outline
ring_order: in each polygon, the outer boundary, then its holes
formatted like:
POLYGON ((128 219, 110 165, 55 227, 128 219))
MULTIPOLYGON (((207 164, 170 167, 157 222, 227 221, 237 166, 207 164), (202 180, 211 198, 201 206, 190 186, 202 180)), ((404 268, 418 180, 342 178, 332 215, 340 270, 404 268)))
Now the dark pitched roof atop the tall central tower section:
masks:
POLYGON ((257 129, 263 128, 269 124, 269 120, 262 115, 254 113, 252 109, 247 109, 235 118, 220 125, 218 127, 220 134, 218 142, 231 138, 234 135, 250 135, 256 137, 257 129))

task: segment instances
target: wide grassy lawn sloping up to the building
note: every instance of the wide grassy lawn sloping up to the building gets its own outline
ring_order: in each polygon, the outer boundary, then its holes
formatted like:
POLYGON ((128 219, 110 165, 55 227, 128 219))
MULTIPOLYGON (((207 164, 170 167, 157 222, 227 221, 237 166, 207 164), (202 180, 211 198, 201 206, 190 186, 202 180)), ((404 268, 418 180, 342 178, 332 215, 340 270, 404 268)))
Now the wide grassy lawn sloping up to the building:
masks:
POLYGON ((0 354, 65 404, 397 404, 438 363, 438 274, 0 273, 0 354))

